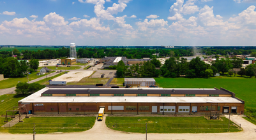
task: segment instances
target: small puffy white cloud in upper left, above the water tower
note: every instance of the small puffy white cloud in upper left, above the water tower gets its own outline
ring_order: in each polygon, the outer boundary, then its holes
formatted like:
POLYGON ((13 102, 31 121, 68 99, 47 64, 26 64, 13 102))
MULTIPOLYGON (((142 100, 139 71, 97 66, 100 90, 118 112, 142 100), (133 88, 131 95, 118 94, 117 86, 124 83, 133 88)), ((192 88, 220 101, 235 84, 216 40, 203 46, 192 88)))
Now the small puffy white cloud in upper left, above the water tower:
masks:
POLYGON ((49 13, 49 15, 45 15, 45 17, 43 17, 43 20, 45 20, 45 23, 47 24, 56 25, 56 26, 62 26, 62 25, 68 24, 68 21, 65 21, 64 17, 57 15, 55 12, 49 13))

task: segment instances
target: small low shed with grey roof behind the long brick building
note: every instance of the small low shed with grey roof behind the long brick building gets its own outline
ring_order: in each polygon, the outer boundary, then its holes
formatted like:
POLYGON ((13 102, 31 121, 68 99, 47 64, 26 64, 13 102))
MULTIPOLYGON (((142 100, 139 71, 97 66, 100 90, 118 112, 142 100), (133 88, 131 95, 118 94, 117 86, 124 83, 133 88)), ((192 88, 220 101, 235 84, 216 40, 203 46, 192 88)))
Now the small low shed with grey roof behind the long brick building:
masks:
POLYGON ((124 78, 124 86, 126 85, 149 87, 156 85, 156 80, 154 78, 124 78))

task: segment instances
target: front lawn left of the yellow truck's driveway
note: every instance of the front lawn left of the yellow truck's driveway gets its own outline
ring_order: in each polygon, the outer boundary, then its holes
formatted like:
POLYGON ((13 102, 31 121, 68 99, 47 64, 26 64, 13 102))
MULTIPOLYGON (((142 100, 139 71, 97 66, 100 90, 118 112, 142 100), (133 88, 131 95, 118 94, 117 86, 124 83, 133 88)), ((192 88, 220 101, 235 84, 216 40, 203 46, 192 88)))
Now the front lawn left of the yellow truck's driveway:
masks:
POLYGON ((96 117, 31 117, 24 118, 23 123, 17 123, 11 129, 0 129, 0 132, 11 134, 33 133, 33 123, 36 125, 36 134, 51 132, 80 132, 91 129, 96 117))

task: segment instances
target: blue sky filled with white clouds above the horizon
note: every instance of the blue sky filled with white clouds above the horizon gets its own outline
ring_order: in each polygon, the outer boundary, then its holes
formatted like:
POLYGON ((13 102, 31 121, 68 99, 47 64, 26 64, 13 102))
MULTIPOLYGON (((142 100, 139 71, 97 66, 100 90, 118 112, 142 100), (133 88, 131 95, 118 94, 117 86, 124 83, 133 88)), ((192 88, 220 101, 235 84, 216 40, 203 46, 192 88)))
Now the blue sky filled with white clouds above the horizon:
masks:
POLYGON ((0 45, 256 46, 256 0, 0 0, 0 45))

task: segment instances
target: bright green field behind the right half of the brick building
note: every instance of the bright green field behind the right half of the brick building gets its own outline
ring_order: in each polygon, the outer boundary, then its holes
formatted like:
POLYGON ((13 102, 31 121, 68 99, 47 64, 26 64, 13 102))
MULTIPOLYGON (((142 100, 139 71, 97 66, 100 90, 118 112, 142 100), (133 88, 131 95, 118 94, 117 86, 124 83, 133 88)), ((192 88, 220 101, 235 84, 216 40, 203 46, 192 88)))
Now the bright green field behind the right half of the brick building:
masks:
POLYGON ((245 101, 245 106, 256 108, 256 78, 154 78, 163 88, 225 88, 245 101))

